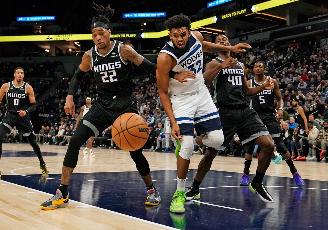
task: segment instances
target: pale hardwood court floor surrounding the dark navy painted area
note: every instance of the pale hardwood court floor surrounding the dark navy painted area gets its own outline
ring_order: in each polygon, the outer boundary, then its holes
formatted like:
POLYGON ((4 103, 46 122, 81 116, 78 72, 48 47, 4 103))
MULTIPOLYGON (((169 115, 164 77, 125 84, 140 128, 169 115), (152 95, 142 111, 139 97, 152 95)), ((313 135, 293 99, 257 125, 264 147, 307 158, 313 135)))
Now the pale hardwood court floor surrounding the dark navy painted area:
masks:
MULTIPOLYGON (((40 145, 40 148, 45 153, 44 155, 47 155, 44 156, 44 160, 50 175, 61 173, 67 147, 40 145)), ((24 157, 19 154, 10 156, 6 152, 6 150, 8 152, 31 151, 32 148, 29 144, 3 144, 3 150, 0 165, 2 175, 41 174, 36 157, 24 157)), ((94 154, 96 155, 95 158, 85 157, 81 148, 74 173, 136 171, 129 152, 113 149, 94 149, 94 154)), ((172 153, 144 152, 144 155, 149 161, 151 170, 176 169, 176 158, 172 153)), ((190 169, 197 169, 201 158, 200 155, 194 155, 191 158, 190 169)), ((251 173, 255 173, 256 166, 257 159, 254 159, 251 165, 251 173)), ((326 176, 328 164, 326 163, 295 162, 295 166, 303 179, 328 181, 326 176)), ((243 158, 219 156, 215 158, 211 169, 242 173, 243 167, 243 158)), ((284 162, 276 165, 271 164, 267 175, 291 177, 289 168, 284 162)), ((25 177, 26 180, 29 180, 28 176, 25 177)), ((187 184, 190 184, 192 178, 188 180, 187 184)), ((206 177, 204 180, 206 180, 206 177)), ((57 180, 56 182, 59 185, 60 181, 57 180)), ((154 182, 155 186, 156 183, 160 182, 154 182)), ((238 181, 236 184, 238 184, 238 181)), ((40 204, 51 198, 53 194, 38 192, 24 186, 0 181, 0 229, 174 229, 75 201, 70 202, 67 208, 52 211, 41 210, 39 208, 40 204)))

